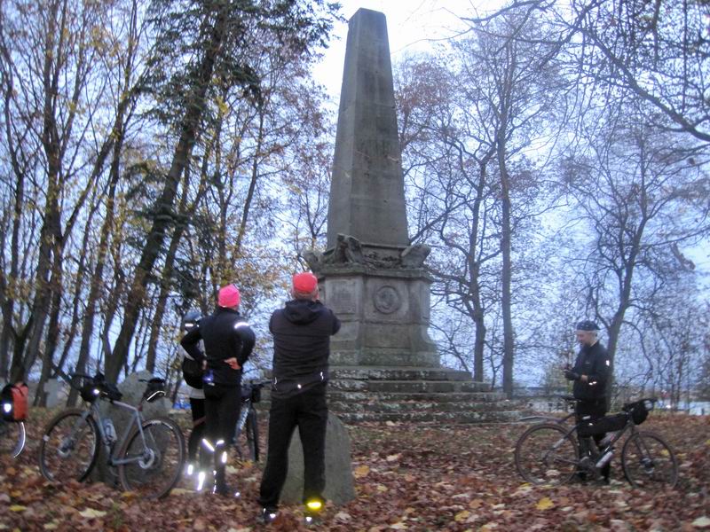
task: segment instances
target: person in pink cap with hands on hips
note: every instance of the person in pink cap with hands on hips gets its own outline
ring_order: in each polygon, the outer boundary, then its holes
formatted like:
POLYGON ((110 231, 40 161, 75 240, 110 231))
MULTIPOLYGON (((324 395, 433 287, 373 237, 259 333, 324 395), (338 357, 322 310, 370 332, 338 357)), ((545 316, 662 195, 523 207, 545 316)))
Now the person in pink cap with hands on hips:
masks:
MULTIPOLYGON (((214 453, 215 483, 213 492, 230 495, 225 468, 227 450, 239 419, 241 406, 241 368, 254 348, 255 336, 239 313, 239 289, 234 285, 219 290, 217 309, 203 317, 200 323, 187 332, 180 344, 195 360, 203 364, 205 375, 205 438, 202 445, 214 453), (202 340, 205 353, 199 343, 202 340)), ((207 473, 198 476, 198 489, 207 473)), ((235 492, 236 497, 239 492, 235 492)))

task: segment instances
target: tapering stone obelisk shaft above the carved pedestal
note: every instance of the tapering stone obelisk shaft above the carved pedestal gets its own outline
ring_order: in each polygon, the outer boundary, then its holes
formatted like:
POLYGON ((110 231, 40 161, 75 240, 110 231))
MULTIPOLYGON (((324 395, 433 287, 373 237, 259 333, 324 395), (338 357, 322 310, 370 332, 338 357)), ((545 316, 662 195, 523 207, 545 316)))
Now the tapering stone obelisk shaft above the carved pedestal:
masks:
POLYGON ((327 248, 338 234, 367 250, 408 246, 404 177, 384 13, 360 8, 345 49, 327 248))

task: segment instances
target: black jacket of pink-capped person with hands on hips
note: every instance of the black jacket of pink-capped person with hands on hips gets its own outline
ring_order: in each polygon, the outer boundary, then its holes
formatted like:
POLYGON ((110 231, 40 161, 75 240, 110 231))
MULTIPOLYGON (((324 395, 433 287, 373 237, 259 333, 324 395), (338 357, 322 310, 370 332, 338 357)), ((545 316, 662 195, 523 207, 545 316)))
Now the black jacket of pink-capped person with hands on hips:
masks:
POLYGON ((233 370, 224 361, 235 357, 243 366, 254 348, 255 340, 254 332, 239 312, 218 307, 187 332, 180 345, 200 364, 207 358, 207 368, 212 370, 216 384, 239 386, 241 370, 233 370), (200 340, 204 342, 204 354, 199 348, 200 340))

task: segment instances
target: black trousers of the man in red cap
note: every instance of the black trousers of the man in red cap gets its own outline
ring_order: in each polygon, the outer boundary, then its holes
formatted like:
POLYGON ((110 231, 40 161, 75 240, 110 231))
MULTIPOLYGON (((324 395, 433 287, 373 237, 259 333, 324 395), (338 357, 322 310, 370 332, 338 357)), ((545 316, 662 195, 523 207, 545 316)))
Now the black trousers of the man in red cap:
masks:
POLYGON ((269 449, 259 489, 259 504, 276 508, 288 473, 288 446, 298 426, 304 448, 304 503, 323 499, 326 486, 326 384, 287 398, 272 397, 269 449))

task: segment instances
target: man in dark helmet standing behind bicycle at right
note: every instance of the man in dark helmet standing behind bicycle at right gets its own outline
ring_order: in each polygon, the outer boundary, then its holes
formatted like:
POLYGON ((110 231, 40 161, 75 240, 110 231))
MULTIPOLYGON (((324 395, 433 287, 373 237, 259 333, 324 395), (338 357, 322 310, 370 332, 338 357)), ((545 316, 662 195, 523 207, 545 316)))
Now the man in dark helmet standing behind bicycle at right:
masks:
MULTIPOLYGON (((575 335, 580 344, 580 352, 574 362, 564 370, 564 377, 572 380, 572 395, 577 399, 575 414, 577 423, 589 416, 589 421, 604 418, 608 411, 606 387, 610 377, 611 360, 606 348, 598 339, 599 325, 585 320, 577 324, 575 335)), ((604 439, 604 434, 596 434, 594 440, 597 447, 604 439)), ((580 451, 583 451, 580 449, 580 451)), ((581 455, 580 455, 581 456, 581 455)), ((602 468, 604 481, 609 482, 611 464, 607 462, 602 468)), ((580 474, 583 477, 583 473, 580 474)))

